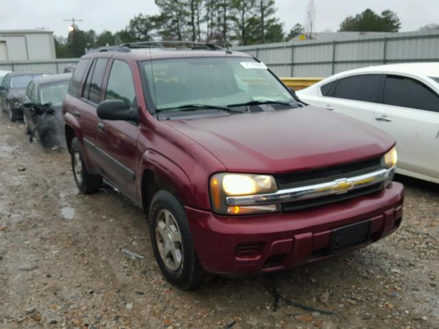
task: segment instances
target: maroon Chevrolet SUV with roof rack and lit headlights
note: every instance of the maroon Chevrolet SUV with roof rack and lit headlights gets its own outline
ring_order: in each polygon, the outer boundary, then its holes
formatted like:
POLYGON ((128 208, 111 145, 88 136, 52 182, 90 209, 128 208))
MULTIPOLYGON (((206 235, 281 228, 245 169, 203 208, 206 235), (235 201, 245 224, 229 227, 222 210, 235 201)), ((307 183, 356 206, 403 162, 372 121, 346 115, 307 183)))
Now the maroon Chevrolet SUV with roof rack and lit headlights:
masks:
POLYGON ((102 48, 64 100, 82 193, 102 178, 147 214, 169 282, 311 263, 394 232, 395 142, 307 106, 265 64, 197 43, 102 48))

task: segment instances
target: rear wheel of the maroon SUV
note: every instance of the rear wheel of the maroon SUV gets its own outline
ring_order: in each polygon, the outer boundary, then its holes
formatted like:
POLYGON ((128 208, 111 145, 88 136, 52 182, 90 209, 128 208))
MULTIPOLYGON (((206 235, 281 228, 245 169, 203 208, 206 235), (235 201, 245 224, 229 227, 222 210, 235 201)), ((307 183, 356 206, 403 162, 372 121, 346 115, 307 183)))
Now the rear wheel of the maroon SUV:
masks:
POLYGON ((76 186, 78 186, 81 193, 91 194, 99 191, 102 185, 102 177, 100 175, 92 175, 88 171, 84 162, 84 153, 76 137, 71 142, 71 167, 76 186))

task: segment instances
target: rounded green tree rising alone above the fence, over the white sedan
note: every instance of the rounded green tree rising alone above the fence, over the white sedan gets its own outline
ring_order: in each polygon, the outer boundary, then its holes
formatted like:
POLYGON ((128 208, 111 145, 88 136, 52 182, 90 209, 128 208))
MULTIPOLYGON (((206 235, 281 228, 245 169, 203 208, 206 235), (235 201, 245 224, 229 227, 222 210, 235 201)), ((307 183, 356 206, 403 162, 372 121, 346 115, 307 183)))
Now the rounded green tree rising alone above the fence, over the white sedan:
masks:
POLYGON ((369 8, 355 17, 346 17, 340 24, 340 31, 398 32, 400 28, 401 22, 392 10, 384 10, 378 15, 369 8))

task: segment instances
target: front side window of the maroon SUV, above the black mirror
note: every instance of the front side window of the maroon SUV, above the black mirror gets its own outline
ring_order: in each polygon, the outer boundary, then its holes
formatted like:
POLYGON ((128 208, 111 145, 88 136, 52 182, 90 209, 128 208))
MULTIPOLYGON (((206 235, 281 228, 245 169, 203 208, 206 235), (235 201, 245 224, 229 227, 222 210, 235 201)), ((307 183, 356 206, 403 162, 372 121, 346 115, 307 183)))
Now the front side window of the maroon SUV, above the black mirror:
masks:
POLYGON ((105 99, 122 99, 131 107, 135 98, 130 66, 126 62, 115 60, 111 67, 110 77, 108 77, 105 99))

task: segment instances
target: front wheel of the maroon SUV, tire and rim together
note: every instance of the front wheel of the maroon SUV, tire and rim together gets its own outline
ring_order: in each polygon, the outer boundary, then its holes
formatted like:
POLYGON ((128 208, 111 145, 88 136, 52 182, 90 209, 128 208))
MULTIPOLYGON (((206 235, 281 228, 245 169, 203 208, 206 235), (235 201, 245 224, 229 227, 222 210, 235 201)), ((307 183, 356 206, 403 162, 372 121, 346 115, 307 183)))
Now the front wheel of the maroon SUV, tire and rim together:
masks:
POLYGON ((198 262, 180 201, 168 191, 158 191, 151 202, 149 219, 152 249, 163 276, 182 290, 200 287, 207 276, 198 262))

